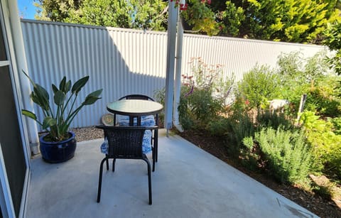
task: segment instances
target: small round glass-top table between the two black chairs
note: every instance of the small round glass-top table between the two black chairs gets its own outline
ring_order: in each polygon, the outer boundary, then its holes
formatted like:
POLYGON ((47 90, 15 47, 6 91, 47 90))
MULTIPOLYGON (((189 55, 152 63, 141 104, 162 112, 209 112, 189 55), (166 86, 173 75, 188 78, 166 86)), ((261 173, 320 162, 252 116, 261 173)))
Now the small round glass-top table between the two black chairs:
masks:
POLYGON ((140 99, 124 99, 107 104, 109 112, 129 116, 131 126, 134 117, 138 118, 138 125, 141 125, 141 116, 158 114, 162 109, 163 105, 158 102, 140 99))

